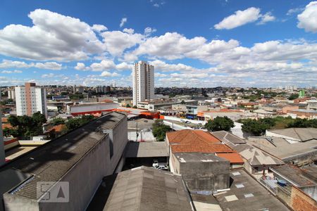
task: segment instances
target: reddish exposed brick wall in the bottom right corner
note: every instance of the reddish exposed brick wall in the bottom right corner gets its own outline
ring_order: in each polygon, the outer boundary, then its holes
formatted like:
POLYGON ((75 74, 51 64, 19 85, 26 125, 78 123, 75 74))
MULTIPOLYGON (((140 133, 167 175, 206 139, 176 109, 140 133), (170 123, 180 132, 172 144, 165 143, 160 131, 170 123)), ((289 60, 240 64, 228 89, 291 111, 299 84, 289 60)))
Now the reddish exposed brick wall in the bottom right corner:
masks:
POLYGON ((291 207, 295 211, 313 211, 317 210, 317 203, 315 200, 307 196, 299 188, 292 187, 291 207))

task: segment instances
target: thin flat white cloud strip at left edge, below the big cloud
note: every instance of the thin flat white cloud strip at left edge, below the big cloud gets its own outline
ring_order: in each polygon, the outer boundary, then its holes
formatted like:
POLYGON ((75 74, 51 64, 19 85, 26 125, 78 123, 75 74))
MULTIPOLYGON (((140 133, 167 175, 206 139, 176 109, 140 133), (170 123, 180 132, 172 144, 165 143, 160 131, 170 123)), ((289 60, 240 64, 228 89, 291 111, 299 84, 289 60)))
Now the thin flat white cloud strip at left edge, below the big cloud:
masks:
POLYGON ((46 70, 61 70, 62 65, 56 62, 25 63, 22 61, 4 59, 2 60, 2 63, 0 63, 0 68, 39 68, 46 70))

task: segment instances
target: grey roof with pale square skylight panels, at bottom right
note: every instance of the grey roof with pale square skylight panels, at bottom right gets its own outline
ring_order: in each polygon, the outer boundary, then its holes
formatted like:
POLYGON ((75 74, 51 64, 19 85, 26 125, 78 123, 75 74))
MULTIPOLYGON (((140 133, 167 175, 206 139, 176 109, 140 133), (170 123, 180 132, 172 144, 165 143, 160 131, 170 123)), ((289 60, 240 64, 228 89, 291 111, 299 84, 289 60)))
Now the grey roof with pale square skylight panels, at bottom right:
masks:
POLYGON ((231 171, 230 177, 233 179, 230 191, 213 195, 223 210, 290 210, 244 170, 231 171))

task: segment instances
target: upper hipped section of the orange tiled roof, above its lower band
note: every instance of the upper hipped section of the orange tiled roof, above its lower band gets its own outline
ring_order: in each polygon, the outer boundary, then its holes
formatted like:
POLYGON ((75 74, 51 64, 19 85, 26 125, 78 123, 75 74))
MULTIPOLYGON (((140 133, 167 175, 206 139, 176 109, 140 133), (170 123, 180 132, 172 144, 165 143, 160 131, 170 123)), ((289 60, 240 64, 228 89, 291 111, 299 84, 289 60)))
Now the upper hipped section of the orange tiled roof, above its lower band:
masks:
POLYGON ((177 132, 168 132, 166 136, 170 144, 181 143, 201 145, 220 143, 220 140, 217 139, 215 136, 211 135, 209 132, 204 132, 202 130, 183 129, 177 132))

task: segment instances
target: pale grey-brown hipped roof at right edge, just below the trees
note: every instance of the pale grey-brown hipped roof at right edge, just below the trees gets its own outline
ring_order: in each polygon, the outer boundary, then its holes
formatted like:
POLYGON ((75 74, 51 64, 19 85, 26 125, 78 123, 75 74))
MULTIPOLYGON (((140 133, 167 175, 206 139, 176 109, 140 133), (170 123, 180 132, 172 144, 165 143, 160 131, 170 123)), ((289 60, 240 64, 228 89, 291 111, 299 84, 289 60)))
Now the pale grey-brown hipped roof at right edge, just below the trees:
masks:
POLYGON ((280 134, 282 136, 289 136, 292 139, 298 139, 299 141, 309 141, 311 139, 317 139, 317 128, 287 128, 287 129, 270 129, 268 132, 280 134))

